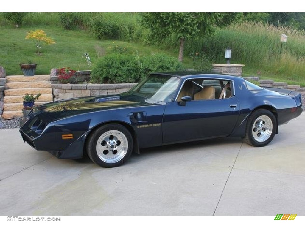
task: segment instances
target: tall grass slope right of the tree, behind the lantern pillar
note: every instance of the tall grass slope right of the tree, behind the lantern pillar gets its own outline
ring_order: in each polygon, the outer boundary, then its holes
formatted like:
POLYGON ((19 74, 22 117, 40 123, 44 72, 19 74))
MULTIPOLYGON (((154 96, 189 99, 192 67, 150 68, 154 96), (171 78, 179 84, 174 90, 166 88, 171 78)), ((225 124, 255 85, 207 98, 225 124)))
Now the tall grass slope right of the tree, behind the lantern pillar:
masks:
MULTIPOLYGON (((232 49, 231 63, 246 64, 262 75, 275 75, 284 81, 305 83, 304 31, 265 23, 243 22, 219 29, 215 36, 189 45, 224 63, 224 50, 232 49), (288 36, 280 42, 281 34, 288 36), (282 45, 282 53, 281 51, 282 45)), ((190 49, 186 50, 191 51, 190 49)))

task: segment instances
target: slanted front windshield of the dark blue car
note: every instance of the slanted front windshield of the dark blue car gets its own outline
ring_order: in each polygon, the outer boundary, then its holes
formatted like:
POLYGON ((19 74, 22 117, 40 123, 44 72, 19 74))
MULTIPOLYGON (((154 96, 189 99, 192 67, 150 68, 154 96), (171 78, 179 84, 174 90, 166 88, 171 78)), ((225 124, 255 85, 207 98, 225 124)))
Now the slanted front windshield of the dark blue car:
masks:
POLYGON ((174 76, 151 74, 131 89, 128 94, 135 94, 153 101, 171 101, 180 79, 174 76))

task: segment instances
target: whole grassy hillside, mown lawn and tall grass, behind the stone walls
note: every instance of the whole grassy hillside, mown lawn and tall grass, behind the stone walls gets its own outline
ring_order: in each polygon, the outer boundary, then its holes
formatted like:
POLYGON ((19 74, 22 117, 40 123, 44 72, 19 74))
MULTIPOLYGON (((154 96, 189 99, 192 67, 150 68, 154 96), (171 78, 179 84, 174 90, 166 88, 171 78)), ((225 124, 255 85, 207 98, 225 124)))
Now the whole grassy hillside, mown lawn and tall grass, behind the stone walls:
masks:
MULTIPOLYGON (((63 28, 58 13, 28 13, 23 25, 16 28, 0 13, 0 65, 7 74, 21 74, 19 64, 29 60, 38 64, 36 74, 49 74, 50 69, 60 67, 92 69, 99 58, 113 52, 140 56, 165 53, 178 57, 175 37, 162 43, 152 42, 148 30, 139 23, 138 13, 75 13, 72 16, 75 18, 71 30, 63 28), (109 34, 103 34, 101 40, 96 39, 96 33, 90 29, 95 19, 108 26, 104 30, 109 30, 110 35, 113 34, 111 29, 118 30, 116 40, 109 39, 109 34), (56 44, 43 45, 41 54, 37 54, 34 41, 25 39, 26 33, 35 29, 44 30, 56 44), (86 63, 84 53, 89 53, 92 66, 86 63)), ((193 67, 192 53, 202 53, 204 58, 198 61, 203 64, 225 63, 227 47, 233 49, 231 63, 246 65, 244 75, 259 74, 263 79, 305 86, 304 32, 262 23, 238 23, 219 29, 215 36, 187 41, 183 64, 185 68, 193 67), (288 42, 283 44, 279 54, 282 33, 288 35, 288 42)))

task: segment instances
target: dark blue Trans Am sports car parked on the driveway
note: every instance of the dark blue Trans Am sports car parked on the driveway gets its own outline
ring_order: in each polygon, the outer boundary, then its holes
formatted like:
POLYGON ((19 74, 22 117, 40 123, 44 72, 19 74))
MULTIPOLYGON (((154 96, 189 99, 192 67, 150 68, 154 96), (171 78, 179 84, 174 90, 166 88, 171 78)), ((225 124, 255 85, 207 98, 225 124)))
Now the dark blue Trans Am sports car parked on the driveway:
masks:
POLYGON ((61 100, 34 108, 23 140, 58 158, 84 153, 102 167, 134 151, 171 143, 240 136, 255 147, 302 112, 299 93, 261 88, 243 78, 193 72, 153 73, 129 92, 61 100))

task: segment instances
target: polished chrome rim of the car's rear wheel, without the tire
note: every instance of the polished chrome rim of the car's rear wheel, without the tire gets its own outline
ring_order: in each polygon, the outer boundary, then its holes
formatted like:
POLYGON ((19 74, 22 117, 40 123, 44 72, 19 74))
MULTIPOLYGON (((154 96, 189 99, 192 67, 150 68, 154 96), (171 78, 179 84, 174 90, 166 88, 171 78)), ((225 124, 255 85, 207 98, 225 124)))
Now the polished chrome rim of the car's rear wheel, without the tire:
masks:
POLYGON ((264 142, 273 131, 272 120, 268 116, 259 116, 253 123, 252 136, 257 142, 264 142))

